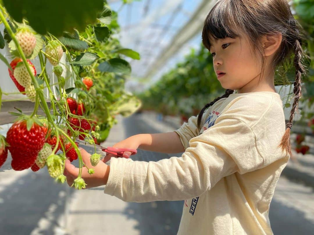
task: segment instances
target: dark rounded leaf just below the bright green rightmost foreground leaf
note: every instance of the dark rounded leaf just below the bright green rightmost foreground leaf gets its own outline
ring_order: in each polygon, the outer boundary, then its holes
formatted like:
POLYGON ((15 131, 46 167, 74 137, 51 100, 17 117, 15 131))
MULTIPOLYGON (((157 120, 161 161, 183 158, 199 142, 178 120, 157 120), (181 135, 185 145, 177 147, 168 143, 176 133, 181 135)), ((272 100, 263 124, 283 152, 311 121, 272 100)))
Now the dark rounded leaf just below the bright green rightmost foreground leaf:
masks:
POLYGON ((101 72, 113 72, 113 73, 123 73, 130 75, 131 74, 131 66, 130 64, 122 59, 114 58, 109 61, 102 62, 98 69, 101 72))

